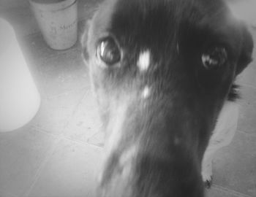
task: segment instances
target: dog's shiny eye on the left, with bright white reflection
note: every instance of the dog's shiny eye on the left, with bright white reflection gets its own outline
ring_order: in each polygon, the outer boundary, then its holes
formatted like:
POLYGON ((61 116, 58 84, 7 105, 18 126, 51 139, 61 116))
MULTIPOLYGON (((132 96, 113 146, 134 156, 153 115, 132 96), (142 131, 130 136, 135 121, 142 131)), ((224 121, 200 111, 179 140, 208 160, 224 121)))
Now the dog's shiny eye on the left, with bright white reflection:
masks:
POLYGON ((113 65, 121 59, 121 54, 116 42, 112 38, 106 38, 97 46, 97 57, 108 65, 113 65))

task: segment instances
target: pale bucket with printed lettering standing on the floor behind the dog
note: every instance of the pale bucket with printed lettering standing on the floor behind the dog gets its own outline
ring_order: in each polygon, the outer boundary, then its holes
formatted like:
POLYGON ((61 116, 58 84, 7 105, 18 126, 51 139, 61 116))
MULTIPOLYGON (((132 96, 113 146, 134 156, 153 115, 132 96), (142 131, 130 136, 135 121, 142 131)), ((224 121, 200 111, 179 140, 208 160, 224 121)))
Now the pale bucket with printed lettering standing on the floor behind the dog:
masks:
POLYGON ((78 39, 77 0, 29 0, 45 42, 64 50, 78 39))

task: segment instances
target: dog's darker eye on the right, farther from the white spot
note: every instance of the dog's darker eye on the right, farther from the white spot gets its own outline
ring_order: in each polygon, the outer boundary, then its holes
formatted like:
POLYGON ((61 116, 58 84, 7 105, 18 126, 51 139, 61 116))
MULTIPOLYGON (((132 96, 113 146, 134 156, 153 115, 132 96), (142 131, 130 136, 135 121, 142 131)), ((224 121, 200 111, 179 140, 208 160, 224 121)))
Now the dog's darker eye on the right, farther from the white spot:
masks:
POLYGON ((217 69, 227 61, 225 47, 211 47, 202 55, 202 63, 206 69, 217 69))

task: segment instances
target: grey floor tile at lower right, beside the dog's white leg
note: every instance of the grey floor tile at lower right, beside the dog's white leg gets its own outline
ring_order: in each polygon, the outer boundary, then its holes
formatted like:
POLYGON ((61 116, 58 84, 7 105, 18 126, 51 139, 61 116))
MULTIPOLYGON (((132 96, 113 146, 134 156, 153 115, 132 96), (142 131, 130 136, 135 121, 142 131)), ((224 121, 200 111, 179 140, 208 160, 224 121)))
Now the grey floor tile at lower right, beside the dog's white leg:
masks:
POLYGON ((237 132, 214 158, 214 184, 249 196, 256 193, 256 137, 237 132))

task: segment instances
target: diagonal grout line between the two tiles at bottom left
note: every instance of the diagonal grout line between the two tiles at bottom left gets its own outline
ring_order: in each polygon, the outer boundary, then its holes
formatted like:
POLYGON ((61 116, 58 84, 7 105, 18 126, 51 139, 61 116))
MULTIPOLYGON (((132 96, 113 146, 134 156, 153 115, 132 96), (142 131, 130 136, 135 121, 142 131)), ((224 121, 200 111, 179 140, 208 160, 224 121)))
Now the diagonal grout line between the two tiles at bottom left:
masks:
MULTIPOLYGON (((43 131, 41 131, 43 132, 43 131)), ((29 189, 24 193, 24 197, 28 197, 29 194, 31 193, 31 191, 34 188, 34 185, 37 183, 42 170, 44 169, 46 163, 48 163, 51 155, 53 155, 53 152, 56 150, 57 144, 59 144, 59 142, 61 141, 61 139, 63 139, 63 136, 60 135, 59 137, 56 137, 55 142, 53 143, 53 147, 48 151, 48 153, 45 155, 45 159, 42 161, 42 163, 39 165, 39 168, 37 169, 36 174, 34 175, 34 181, 31 183, 31 186, 29 187, 29 189)))

